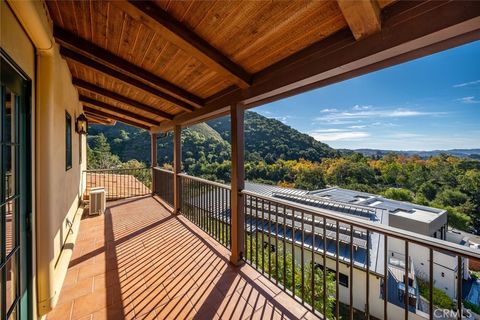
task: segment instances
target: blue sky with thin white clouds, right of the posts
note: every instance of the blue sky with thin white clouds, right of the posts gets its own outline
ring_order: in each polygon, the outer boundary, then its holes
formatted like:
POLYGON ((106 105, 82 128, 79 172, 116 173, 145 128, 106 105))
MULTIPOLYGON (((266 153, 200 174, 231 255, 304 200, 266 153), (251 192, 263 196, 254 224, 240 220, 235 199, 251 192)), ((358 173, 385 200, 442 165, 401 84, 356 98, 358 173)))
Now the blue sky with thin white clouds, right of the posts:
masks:
POLYGON ((253 111, 335 148, 480 148, 480 41, 253 111))

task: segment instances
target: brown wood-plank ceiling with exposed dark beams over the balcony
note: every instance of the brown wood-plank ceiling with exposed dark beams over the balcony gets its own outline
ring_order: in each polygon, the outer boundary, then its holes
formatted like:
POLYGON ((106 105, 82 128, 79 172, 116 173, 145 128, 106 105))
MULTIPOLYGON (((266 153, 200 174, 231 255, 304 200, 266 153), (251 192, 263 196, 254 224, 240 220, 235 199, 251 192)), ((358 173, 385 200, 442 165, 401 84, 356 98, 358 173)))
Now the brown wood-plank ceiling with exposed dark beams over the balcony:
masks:
MULTIPOLYGON (((47 1, 87 116, 152 130, 276 97, 290 83, 277 74, 286 66, 363 43, 386 32, 385 24, 393 29, 447 3, 47 1)), ((480 15, 475 2, 469 6, 480 15)))

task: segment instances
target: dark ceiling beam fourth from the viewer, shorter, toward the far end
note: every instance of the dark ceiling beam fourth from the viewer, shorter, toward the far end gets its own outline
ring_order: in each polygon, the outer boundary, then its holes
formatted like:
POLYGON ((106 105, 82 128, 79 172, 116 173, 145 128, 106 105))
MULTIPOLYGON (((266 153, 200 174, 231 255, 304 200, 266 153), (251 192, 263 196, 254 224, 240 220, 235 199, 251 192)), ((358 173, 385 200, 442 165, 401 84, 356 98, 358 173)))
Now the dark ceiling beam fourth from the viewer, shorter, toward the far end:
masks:
POLYGON ((130 99, 130 98, 125 97, 125 96, 122 96, 122 95, 120 95, 116 92, 107 90, 105 88, 99 87, 99 86, 97 86, 93 83, 87 82, 85 80, 82 80, 82 79, 79 79, 79 78, 72 78, 72 84, 77 88, 81 88, 81 89, 96 93, 98 95, 107 97, 109 99, 116 100, 118 102, 127 104, 127 105, 129 105, 129 106, 131 106, 135 109, 139 109, 139 110, 154 114, 156 116, 160 116, 160 117, 168 119, 168 120, 173 119, 173 115, 170 114, 170 113, 166 113, 164 111, 152 108, 152 107, 150 107, 146 104, 143 104, 143 103, 138 102, 136 100, 130 99))

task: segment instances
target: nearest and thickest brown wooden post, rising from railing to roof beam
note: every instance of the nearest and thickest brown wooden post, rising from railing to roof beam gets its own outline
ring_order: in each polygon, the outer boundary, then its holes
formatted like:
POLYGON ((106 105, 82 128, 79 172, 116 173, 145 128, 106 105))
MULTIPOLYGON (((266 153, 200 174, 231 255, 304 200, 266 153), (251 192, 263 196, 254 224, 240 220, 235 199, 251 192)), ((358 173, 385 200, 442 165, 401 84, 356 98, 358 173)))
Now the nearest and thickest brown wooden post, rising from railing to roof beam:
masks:
POLYGON ((230 261, 238 265, 242 262, 245 247, 245 208, 242 190, 245 188, 244 166, 244 107, 234 104, 230 107, 232 144, 231 181, 231 256, 230 261))

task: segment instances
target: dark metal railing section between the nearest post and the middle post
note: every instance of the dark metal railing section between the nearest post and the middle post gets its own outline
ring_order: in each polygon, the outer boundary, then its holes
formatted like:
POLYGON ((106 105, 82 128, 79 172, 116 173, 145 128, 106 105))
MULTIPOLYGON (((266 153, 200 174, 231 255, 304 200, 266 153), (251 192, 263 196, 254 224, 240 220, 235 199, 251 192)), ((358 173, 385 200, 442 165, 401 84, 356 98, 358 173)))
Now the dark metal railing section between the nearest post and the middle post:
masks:
POLYGON ((179 176, 182 214, 230 248, 230 187, 186 174, 179 176))

